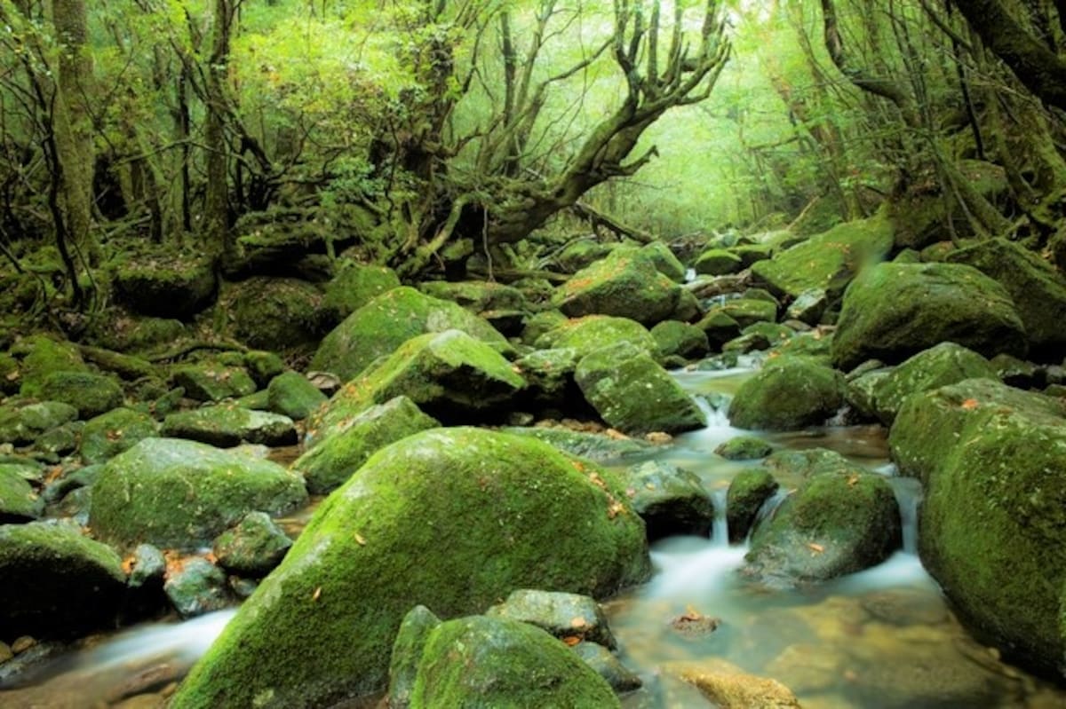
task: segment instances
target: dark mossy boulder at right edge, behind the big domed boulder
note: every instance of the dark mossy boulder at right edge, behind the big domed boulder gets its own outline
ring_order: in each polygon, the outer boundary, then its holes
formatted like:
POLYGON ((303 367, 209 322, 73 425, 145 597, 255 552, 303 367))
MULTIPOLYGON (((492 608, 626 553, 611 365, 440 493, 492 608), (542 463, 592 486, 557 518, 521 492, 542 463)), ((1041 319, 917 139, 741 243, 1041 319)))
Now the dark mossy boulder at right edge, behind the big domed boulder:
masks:
POLYGON ((1002 285, 1029 335, 1031 354, 1060 361, 1066 351, 1066 278, 1048 262, 1005 238, 980 241, 948 254, 1002 285))

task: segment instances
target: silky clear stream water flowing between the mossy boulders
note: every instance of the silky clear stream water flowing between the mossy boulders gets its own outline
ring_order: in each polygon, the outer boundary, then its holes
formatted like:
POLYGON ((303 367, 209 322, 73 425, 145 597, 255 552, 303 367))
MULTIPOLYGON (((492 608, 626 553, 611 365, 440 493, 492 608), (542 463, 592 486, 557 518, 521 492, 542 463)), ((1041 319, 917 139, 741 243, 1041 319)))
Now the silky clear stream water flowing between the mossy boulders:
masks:
MULTIPOLYGON (((677 373, 677 378, 691 392, 721 400, 749 374, 748 368, 677 373)), ((1001 663, 954 620, 916 556, 921 491, 915 480, 894 477, 881 427, 765 438, 776 447, 831 448, 885 475, 900 501, 903 549, 874 568, 802 591, 768 591, 743 579, 737 572, 747 545, 725 541, 724 502, 729 481, 753 463, 713 454, 742 431, 729 427, 721 408, 707 405, 706 411, 707 428, 677 436, 656 459, 696 473, 712 492, 718 514, 710 539, 657 543, 651 581, 608 604, 623 659, 645 682, 625 697, 627 709, 712 707, 677 677, 723 667, 784 682, 805 709, 1066 707, 1066 692, 1001 663), (694 619, 714 619, 716 627, 678 622, 694 619)), ((798 481, 780 482, 794 487, 798 481)), ((784 496, 782 491, 764 511, 784 496)), ((298 529, 305 520, 288 522, 298 529)), ((45 664, 23 686, 0 691, 0 707, 159 707, 167 688, 188 672, 232 612, 145 624, 84 643, 45 664)))

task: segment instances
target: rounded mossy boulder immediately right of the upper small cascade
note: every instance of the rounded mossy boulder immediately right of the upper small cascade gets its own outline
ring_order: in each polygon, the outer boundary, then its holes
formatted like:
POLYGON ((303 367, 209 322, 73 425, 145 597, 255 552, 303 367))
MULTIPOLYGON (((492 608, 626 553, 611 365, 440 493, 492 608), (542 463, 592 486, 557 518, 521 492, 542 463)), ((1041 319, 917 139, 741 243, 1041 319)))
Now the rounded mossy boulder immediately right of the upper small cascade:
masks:
POLYGON ((729 423, 770 431, 819 426, 843 406, 844 391, 843 375, 817 360, 777 358, 737 390, 729 423))

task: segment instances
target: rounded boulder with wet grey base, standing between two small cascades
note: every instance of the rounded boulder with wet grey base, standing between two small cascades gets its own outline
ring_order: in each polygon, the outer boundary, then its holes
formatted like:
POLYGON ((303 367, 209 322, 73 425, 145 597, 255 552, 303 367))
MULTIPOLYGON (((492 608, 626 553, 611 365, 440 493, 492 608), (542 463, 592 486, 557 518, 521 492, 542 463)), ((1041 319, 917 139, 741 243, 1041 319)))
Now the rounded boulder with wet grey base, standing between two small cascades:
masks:
POLYGON ((745 574, 770 586, 874 566, 902 544, 895 494, 873 473, 817 473, 756 527, 745 574))

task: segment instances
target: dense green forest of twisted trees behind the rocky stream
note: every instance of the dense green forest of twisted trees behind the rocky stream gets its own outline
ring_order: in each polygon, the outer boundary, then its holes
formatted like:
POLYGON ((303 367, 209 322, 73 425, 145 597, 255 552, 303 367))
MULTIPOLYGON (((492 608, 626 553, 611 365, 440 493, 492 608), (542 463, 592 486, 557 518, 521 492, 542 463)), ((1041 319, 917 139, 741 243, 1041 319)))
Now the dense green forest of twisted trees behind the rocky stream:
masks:
POLYGON ((7 0, 0 245, 35 277, 13 306, 99 309, 131 253, 232 275, 355 246, 413 278, 544 267, 538 245, 593 230, 813 233, 886 201, 909 245, 1043 248, 1060 9, 7 0))

